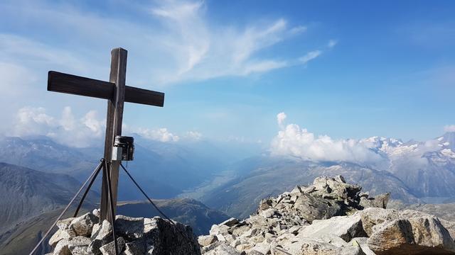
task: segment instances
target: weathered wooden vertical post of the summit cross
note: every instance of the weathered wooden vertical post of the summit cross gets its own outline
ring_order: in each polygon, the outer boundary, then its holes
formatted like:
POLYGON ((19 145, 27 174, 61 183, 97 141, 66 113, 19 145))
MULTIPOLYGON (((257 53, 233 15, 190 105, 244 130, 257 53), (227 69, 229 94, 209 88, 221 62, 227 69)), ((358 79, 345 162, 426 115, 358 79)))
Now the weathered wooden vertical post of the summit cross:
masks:
MULTIPOLYGON (((105 160, 107 161, 107 172, 102 179, 100 220, 110 222, 112 215, 109 210, 109 199, 107 194, 107 179, 112 185, 112 202, 114 213, 117 205, 117 187, 119 182, 119 162, 112 162, 112 147, 114 137, 122 135, 122 119, 125 95, 125 79, 127 74, 127 50, 115 48, 111 52, 111 71, 109 81, 115 84, 114 95, 107 101, 106 115, 106 138, 105 138, 105 160)), ((115 219, 113 219, 115 220, 115 219)))

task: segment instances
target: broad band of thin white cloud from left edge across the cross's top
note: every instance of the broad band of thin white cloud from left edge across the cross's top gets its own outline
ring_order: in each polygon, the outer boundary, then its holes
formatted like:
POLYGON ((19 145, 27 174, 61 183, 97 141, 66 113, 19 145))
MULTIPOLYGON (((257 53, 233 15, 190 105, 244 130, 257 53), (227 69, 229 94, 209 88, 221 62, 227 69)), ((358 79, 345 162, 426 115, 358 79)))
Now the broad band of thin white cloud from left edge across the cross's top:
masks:
POLYGON ((101 49, 121 45, 136 52, 134 62, 139 69, 132 70, 135 75, 131 80, 138 84, 245 77, 289 67, 298 64, 298 57, 284 59, 279 54, 263 57, 262 51, 292 40, 307 30, 301 24, 291 26, 286 18, 264 18, 240 26, 214 25, 206 15, 209 6, 205 1, 141 4, 133 8, 138 15, 146 10, 145 21, 138 23, 48 1, 25 6, 21 1, 18 4, 11 2, 6 7, 17 13, 13 18, 9 16, 9 22, 27 18, 40 28, 53 30, 61 36, 58 40, 71 42, 65 42, 62 45, 66 46, 59 48, 50 41, 0 35, 0 61, 20 57, 23 62, 52 62, 53 66, 65 65, 80 74, 92 74, 93 69, 98 72, 107 69, 99 66, 105 63, 100 60, 107 55, 101 49), (68 46, 74 46, 73 50, 65 49, 68 46), (76 54, 83 57, 75 57, 76 54))

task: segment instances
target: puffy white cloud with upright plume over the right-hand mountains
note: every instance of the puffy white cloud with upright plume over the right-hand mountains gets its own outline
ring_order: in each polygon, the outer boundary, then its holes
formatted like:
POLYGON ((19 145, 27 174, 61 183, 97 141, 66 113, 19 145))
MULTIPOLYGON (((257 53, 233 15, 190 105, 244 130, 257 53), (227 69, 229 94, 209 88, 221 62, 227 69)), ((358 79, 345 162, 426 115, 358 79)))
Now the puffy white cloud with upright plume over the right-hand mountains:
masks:
POLYGON ((316 136, 296 124, 284 126, 285 118, 285 113, 277 115, 280 130, 272 140, 270 148, 274 155, 316 161, 376 162, 380 160, 378 154, 358 140, 333 140, 327 135, 316 136))

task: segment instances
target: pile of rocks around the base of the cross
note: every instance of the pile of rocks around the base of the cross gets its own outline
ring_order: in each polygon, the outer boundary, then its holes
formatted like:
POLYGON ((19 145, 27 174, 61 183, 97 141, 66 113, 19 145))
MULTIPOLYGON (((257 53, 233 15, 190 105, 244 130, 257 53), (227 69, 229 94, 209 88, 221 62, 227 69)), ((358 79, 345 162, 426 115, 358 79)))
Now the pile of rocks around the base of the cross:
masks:
MULTIPOLYGON (((115 254, 112 225, 99 222, 99 211, 80 217, 60 220, 58 230, 50 238, 53 255, 115 254)), ((161 217, 143 218, 117 215, 114 222, 119 254, 200 254, 198 241, 191 227, 171 224, 161 217)))

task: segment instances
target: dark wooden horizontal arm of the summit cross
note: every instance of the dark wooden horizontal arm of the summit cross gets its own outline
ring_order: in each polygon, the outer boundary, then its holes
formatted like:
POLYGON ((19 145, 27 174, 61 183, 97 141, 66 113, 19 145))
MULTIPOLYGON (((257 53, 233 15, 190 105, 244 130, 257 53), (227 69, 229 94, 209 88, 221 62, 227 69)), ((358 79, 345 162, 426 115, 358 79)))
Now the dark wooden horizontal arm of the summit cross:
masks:
MULTIPOLYGON (((48 91, 55 91, 79 96, 112 99, 115 84, 73 74, 48 72, 48 91)), ((164 93, 125 86, 125 102, 140 103, 149 106, 164 106, 164 93)))

